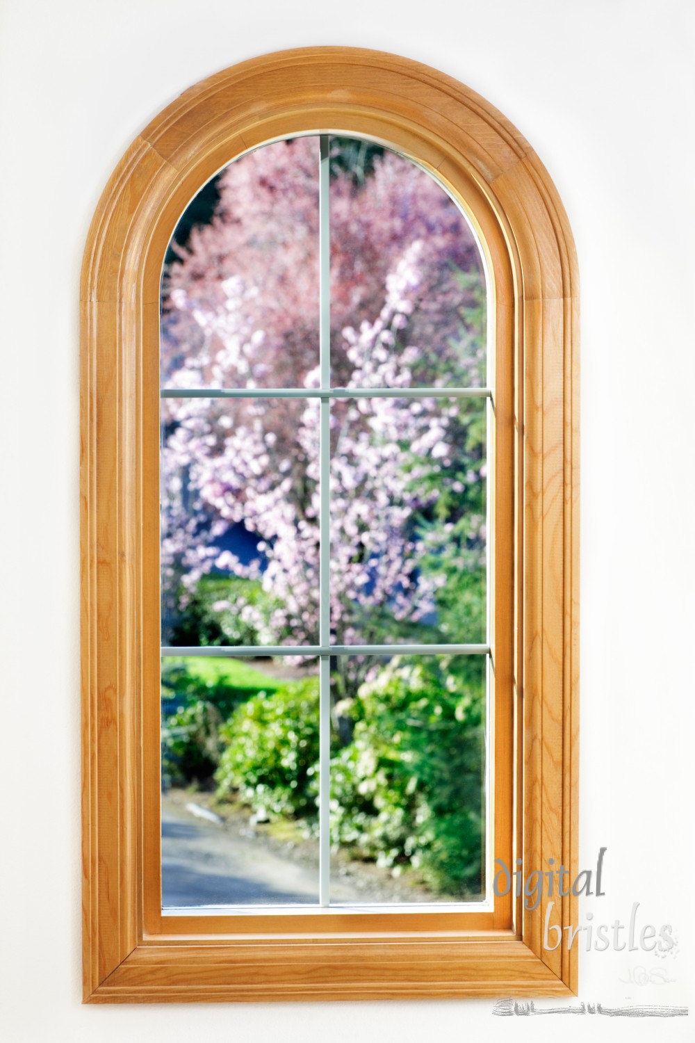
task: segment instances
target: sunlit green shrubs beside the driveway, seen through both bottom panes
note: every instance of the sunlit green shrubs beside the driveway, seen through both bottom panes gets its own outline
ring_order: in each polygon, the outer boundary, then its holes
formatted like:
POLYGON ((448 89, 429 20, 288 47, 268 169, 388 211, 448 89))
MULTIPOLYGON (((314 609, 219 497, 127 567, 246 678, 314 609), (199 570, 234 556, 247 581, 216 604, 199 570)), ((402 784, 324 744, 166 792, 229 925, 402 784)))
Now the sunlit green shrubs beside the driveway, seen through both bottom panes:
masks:
MULTIPOLYGON (((480 893, 485 815, 485 662, 395 657, 342 712, 352 739, 333 734, 330 836, 342 850, 398 871, 435 893, 480 893)), ((223 726, 215 778, 262 819, 316 824, 317 678, 259 693, 223 726)))

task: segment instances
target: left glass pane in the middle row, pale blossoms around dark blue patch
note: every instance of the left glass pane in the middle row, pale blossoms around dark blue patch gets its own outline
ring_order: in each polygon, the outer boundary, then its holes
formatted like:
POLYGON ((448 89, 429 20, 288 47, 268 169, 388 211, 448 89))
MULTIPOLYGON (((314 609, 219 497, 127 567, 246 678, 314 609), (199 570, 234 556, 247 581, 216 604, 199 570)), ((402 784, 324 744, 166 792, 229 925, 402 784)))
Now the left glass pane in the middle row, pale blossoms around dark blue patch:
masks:
POLYGON ((165 646, 316 645, 319 403, 162 399, 165 646))

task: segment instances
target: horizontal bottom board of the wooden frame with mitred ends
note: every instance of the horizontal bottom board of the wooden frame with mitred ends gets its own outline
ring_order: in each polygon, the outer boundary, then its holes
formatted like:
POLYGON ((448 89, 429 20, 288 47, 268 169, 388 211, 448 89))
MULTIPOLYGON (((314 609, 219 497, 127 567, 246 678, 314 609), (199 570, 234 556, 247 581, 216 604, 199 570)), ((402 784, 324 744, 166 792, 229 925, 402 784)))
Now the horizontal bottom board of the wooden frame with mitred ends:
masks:
POLYGON ((520 941, 278 940, 142 946, 93 1002, 568 995, 520 941))

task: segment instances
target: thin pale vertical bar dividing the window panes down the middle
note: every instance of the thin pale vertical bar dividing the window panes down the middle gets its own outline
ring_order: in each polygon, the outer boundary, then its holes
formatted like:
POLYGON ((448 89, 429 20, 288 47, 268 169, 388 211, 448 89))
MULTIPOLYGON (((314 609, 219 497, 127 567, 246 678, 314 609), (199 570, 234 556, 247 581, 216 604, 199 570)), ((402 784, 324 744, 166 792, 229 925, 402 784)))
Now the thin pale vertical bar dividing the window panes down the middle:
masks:
MULTIPOLYGON (((319 361, 321 390, 330 390, 330 211, 328 135, 320 138, 319 175, 319 361)), ((330 645, 330 398, 321 397, 319 432, 319 644, 330 645)), ((330 656, 319 674, 319 903, 330 904, 330 656)))

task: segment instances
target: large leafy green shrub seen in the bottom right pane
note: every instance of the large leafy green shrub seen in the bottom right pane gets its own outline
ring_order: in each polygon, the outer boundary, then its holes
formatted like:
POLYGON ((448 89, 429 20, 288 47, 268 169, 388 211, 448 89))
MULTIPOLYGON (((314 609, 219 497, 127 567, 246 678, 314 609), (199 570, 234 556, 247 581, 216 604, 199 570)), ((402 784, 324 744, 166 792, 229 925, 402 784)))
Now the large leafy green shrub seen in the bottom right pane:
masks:
POLYGON ((480 893, 485 793, 485 682, 462 660, 375 670, 331 760, 332 843, 456 896, 480 893))

